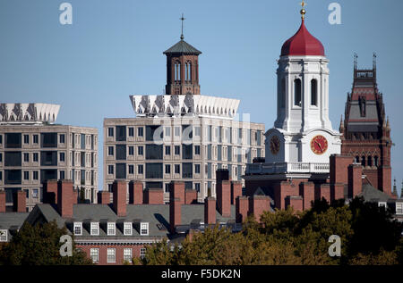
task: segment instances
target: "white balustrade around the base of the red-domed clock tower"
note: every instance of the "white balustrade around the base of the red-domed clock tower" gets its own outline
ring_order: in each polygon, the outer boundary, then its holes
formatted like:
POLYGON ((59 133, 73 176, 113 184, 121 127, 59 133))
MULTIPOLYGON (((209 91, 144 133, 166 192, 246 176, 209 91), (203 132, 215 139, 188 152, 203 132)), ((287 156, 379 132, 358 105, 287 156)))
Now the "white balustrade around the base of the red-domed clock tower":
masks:
POLYGON ((329 163, 272 162, 247 164, 245 175, 276 173, 329 173, 329 163))

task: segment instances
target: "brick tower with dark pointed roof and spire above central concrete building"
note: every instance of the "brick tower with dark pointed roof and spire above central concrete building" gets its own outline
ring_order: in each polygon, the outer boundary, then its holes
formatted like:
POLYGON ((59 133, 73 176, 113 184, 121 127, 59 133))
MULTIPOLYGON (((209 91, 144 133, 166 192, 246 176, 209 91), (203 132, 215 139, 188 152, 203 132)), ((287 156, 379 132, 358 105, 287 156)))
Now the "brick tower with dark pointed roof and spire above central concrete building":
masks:
POLYGON ((167 95, 200 95, 199 55, 201 52, 184 41, 184 15, 181 40, 167 49, 167 95))

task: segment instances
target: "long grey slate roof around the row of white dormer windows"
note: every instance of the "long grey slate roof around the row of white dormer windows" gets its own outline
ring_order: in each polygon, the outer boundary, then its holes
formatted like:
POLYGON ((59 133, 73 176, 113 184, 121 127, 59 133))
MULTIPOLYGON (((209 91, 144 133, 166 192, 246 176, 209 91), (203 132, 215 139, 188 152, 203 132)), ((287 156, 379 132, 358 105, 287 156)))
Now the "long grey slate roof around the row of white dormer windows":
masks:
MULTIPOLYGON (((185 232, 194 221, 200 223, 204 221, 204 204, 182 204, 181 207, 181 231, 185 232), (187 226, 187 227, 186 227, 187 226)), ((218 222, 231 222, 236 218, 236 207, 231 205, 231 217, 224 218, 217 212, 218 222)), ((118 217, 116 212, 108 204, 74 204, 73 218, 63 219, 52 204, 37 204, 30 213, 28 222, 35 224, 40 221, 56 221, 62 228, 73 231, 73 222, 83 222, 82 236, 75 236, 76 240, 117 240, 117 239, 155 239, 169 237, 169 204, 128 204, 126 216, 118 217), (90 236, 90 221, 99 222, 99 236, 90 236), (149 236, 141 236, 140 231, 134 225, 133 236, 124 236, 123 227, 116 225, 116 236, 107 236, 107 221, 121 223, 127 222, 149 222, 149 236)), ((123 226, 123 224, 121 225, 123 226)))

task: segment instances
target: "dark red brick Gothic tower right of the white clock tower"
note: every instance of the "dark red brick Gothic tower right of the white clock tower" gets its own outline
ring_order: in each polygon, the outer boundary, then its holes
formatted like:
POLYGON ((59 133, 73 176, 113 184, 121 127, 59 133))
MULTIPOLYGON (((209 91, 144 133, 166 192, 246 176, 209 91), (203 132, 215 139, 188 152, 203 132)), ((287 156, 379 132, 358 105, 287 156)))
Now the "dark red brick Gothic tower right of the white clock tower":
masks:
POLYGON ((370 183, 391 196, 390 125, 385 118, 382 93, 376 83, 376 55, 373 69, 360 70, 354 62, 354 81, 347 94, 345 120, 340 121, 343 134, 341 154, 354 156, 363 166, 366 176, 363 183, 370 183))

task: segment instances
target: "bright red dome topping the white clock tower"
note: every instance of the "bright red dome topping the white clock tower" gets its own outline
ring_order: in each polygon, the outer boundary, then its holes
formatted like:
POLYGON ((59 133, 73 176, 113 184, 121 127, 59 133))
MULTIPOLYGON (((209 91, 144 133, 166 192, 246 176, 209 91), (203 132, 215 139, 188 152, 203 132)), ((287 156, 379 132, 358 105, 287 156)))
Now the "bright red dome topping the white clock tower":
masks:
POLYGON ((318 55, 324 56, 324 48, 321 41, 313 37, 305 28, 304 20, 296 34, 289 38, 281 47, 281 56, 287 55, 318 55))

